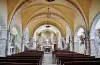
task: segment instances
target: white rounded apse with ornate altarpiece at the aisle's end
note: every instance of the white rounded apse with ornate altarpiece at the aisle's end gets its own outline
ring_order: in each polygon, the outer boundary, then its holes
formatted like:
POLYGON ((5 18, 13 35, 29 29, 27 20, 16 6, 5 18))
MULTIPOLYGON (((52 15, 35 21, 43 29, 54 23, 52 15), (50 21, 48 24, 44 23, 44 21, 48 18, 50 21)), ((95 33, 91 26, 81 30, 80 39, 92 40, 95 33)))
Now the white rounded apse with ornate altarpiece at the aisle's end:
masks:
POLYGON ((54 45, 57 45, 57 48, 62 48, 61 33, 53 25, 50 25, 50 28, 47 28, 46 25, 37 28, 33 40, 33 44, 36 45, 34 49, 38 47, 38 50, 45 51, 45 48, 50 48, 51 51, 54 51, 54 45), (39 48, 39 46, 41 47, 39 48))

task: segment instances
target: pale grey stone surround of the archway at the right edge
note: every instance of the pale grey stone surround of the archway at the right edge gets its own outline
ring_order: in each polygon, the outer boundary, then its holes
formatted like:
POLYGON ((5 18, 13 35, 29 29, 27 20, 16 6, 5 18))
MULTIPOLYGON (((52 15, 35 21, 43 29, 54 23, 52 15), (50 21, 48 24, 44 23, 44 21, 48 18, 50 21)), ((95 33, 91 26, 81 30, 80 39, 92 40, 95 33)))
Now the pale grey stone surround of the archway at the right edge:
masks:
POLYGON ((90 29, 90 43, 91 43, 91 55, 92 56, 96 56, 96 57, 100 57, 100 49, 99 46, 96 42, 96 25, 98 23, 100 19, 100 12, 98 12, 96 14, 96 16, 94 17, 92 24, 91 24, 91 29, 90 29))

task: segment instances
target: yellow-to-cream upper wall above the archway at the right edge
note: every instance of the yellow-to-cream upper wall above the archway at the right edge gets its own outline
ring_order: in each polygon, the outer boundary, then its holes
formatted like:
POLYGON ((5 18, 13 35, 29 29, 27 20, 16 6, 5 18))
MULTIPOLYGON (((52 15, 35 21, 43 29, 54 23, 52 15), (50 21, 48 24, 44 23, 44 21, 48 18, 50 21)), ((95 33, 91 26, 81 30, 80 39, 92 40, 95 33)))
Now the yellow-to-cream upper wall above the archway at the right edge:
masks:
POLYGON ((91 0, 89 9, 89 27, 91 28, 93 19, 100 12, 100 0, 91 0))

